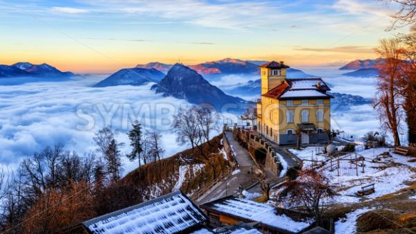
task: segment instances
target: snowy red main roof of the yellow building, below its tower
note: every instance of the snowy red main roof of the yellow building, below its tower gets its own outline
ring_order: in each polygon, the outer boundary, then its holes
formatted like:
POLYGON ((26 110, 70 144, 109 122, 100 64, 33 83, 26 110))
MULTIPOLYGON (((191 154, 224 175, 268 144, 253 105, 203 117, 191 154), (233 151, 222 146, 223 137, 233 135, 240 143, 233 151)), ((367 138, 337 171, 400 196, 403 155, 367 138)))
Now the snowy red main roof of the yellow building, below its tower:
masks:
POLYGON ((263 96, 286 99, 311 99, 311 98, 333 98, 327 94, 330 91, 328 85, 321 78, 309 79, 286 79, 277 87, 270 89, 263 96))

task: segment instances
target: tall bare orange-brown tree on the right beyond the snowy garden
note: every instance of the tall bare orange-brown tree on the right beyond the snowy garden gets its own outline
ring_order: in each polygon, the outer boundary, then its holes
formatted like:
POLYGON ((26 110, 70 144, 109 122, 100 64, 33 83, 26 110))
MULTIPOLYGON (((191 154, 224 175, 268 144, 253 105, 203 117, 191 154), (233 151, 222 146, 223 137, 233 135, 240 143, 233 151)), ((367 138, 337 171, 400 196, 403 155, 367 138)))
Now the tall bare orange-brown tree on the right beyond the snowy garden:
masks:
POLYGON ((379 65, 378 93, 374 108, 379 112, 381 125, 392 133, 395 145, 400 145, 399 128, 403 112, 400 82, 401 69, 404 65, 401 60, 403 50, 398 39, 382 39, 375 51, 383 62, 379 65))

